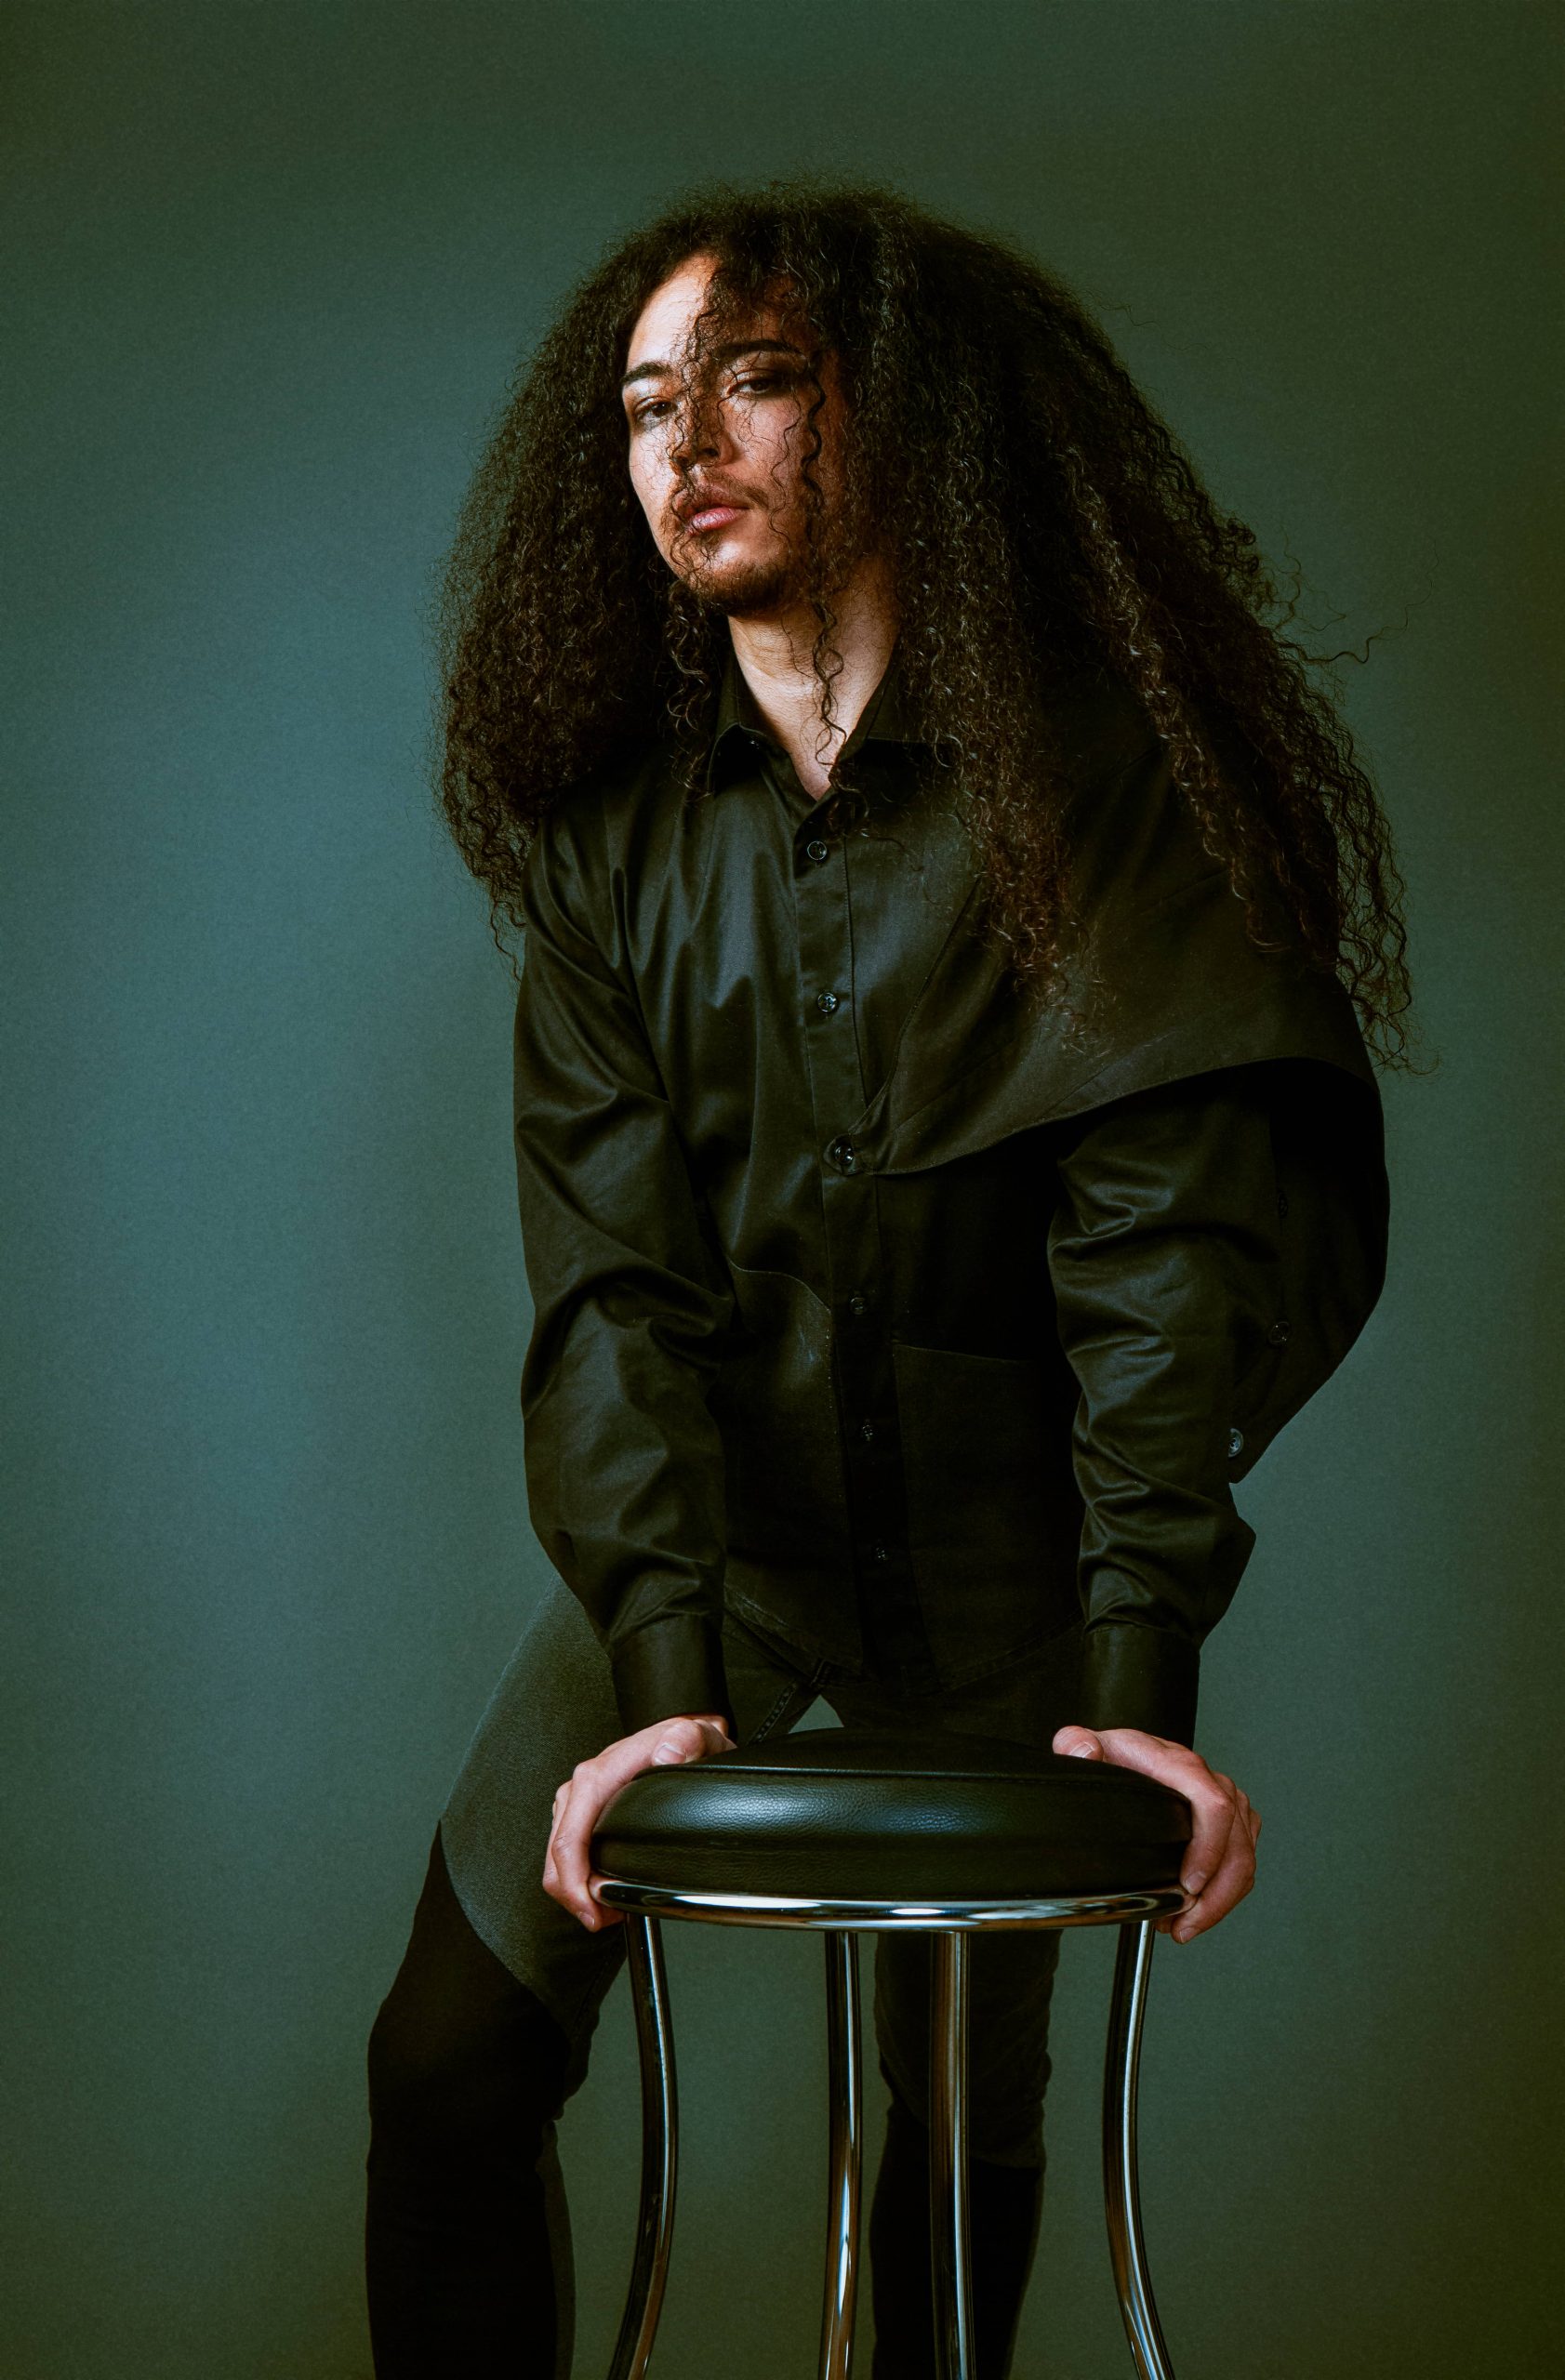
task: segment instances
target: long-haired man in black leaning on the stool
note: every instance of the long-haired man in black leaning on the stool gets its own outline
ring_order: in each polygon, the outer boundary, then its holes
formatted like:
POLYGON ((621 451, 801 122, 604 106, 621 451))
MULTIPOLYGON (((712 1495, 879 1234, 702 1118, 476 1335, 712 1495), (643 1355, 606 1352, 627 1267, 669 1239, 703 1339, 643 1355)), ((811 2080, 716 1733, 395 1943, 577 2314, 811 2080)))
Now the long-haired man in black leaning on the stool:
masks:
MULTIPOLYGON (((1358 1016, 1393 1052, 1405 1007, 1384 821, 1272 600, 1070 295, 884 193, 665 217, 500 426, 445 802, 526 942, 522 1404, 565 1587, 376 2018, 381 2380, 569 2368, 553 2118, 622 1942, 593 1825, 638 1768, 824 1697, 1177 1785, 1177 1942, 1251 1890, 1198 1647, 1253 1542, 1232 1480, 1379 1292, 1358 1016)), ((1053 1964, 974 1944, 984 2380, 1053 1964)), ((874 2370, 915 2380, 915 1942, 879 1937, 877 2033, 874 2370)))

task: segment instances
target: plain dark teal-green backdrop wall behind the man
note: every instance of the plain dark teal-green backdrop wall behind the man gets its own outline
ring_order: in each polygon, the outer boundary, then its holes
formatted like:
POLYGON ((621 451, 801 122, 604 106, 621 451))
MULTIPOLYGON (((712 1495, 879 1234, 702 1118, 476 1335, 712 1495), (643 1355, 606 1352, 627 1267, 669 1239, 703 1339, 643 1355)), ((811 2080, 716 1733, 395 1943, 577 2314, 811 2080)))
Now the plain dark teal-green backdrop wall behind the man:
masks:
MULTIPOLYGON (((793 167, 1050 259, 1303 559, 1308 635, 1386 631, 1346 702, 1444 1064, 1389 1092, 1386 1299, 1246 1488, 1203 1721, 1265 1878, 1160 1956, 1146 2202, 1203 2380, 1544 2368, 1558 36, 1515 0, 12 10, 5 2373, 369 2370, 362 2040, 543 1576, 512 985, 429 807, 422 619, 565 286, 684 178, 793 167)), ((1105 1952, 1058 2018, 1055 2380, 1127 2370, 1105 1952)), ((817 1952, 674 1966, 665 2363, 793 2380, 817 1952)), ((617 1997, 567 2137, 584 2375, 629 2082, 617 1997)))

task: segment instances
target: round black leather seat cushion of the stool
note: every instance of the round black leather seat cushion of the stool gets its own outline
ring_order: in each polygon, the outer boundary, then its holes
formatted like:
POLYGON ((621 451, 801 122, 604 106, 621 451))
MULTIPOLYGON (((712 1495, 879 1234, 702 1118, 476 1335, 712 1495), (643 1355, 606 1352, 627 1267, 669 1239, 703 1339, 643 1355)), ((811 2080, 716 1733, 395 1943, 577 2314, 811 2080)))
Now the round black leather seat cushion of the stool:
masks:
POLYGON ((688 1892, 1034 1899, 1177 1885, 1189 1835, 1189 1802, 1131 1768, 819 1728, 631 1778, 593 1866, 688 1892))

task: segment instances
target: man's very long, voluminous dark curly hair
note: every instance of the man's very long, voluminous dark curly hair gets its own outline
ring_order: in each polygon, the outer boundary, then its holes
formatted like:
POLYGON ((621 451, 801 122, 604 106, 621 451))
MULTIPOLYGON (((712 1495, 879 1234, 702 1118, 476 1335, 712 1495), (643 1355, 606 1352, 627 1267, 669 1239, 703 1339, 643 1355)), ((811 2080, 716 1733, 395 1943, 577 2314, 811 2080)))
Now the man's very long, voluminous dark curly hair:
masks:
POLYGON ((903 690, 1017 983, 1072 1007, 1072 781, 1050 688, 1108 669, 1165 743, 1251 938, 1336 973, 1374 1057, 1408 1064, 1403 885, 1317 676, 1339 657, 1289 635, 1296 595, 1282 602, 1253 531, 1212 502, 1072 290, 879 188, 681 200, 605 257, 517 376, 438 605, 441 797, 495 931, 519 926, 545 812, 619 752, 665 735, 696 795, 727 624, 653 545, 619 400, 636 317, 691 255, 717 259, 703 340, 781 295, 808 333, 810 414, 836 359, 831 516, 803 469, 824 719, 831 593, 846 543, 874 524, 903 690))

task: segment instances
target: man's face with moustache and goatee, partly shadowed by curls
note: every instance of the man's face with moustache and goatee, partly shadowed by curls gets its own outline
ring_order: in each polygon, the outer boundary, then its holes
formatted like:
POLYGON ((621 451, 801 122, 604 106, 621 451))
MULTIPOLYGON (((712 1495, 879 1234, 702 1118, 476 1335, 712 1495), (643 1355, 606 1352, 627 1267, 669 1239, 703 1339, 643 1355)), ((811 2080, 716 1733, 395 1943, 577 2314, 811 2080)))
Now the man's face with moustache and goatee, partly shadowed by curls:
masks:
POLYGON ((817 405, 805 333, 769 307, 696 355, 712 264, 688 257, 631 331, 631 486, 667 566, 722 612, 760 616, 800 588, 805 462, 827 509, 836 500, 843 400, 827 357, 817 405))

